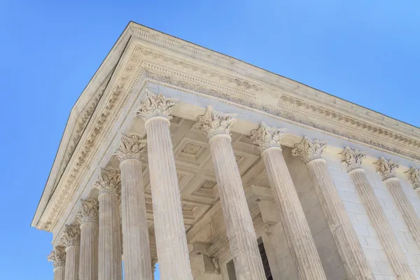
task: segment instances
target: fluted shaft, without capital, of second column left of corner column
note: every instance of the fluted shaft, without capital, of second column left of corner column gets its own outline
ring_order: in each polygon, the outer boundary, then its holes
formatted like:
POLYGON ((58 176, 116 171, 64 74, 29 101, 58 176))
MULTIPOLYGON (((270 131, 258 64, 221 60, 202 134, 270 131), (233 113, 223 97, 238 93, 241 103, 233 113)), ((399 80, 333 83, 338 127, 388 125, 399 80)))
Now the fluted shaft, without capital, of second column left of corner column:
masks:
POLYGON ((121 254, 120 198, 115 193, 102 193, 99 195, 99 280, 123 278, 121 254))

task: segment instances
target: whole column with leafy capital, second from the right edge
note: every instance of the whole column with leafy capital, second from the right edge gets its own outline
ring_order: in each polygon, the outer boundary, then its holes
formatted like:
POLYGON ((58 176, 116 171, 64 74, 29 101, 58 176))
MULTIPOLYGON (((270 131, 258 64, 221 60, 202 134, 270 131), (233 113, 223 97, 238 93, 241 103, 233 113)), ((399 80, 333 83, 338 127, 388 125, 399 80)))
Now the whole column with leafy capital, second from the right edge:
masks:
POLYGON ((398 163, 393 160, 386 160, 385 158, 380 158, 376 162, 376 169, 379 174, 382 176, 386 188, 391 192, 395 204, 397 204, 398 209, 404 217, 405 223, 412 233, 414 240, 420 247, 420 218, 416 214, 416 210, 409 202, 407 195, 402 189, 400 179, 395 176, 395 169, 398 168, 398 163))

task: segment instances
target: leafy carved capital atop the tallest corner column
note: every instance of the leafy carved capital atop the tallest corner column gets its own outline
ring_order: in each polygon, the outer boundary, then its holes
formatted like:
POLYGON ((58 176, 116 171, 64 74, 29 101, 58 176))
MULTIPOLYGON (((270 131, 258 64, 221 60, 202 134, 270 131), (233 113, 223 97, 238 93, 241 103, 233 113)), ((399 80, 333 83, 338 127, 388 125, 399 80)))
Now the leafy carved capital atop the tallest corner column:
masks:
POLYGON ((158 95, 149 93, 147 99, 141 102, 139 109, 137 109, 137 116, 143 118, 144 121, 154 117, 171 120, 172 117, 169 114, 176 104, 178 104, 178 99, 166 98, 162 93, 158 95))

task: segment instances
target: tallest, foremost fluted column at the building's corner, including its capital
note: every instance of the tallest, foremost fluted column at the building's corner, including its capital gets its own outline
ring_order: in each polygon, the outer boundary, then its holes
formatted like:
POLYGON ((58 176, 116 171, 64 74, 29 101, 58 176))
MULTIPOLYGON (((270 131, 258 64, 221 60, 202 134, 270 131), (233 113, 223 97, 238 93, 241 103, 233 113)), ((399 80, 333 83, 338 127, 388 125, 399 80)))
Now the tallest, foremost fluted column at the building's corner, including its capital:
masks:
POLYGON ((163 94, 151 94, 142 102, 137 116, 146 122, 153 221, 161 278, 192 280, 181 195, 169 131, 169 113, 175 105, 175 99, 165 98, 163 94))

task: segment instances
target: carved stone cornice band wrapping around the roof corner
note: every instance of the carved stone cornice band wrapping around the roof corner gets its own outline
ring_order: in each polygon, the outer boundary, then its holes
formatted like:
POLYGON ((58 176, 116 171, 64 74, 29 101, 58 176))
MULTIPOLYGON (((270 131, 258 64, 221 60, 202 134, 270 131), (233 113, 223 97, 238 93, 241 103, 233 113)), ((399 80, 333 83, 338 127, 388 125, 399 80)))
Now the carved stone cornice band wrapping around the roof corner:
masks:
MULTIPOLYGON (((420 130, 416 127, 134 23, 128 25, 107 57, 109 62, 104 61, 87 90, 95 88, 101 92, 99 81, 110 73, 109 64, 116 63, 116 56, 118 65, 113 64, 115 72, 101 97, 90 99, 83 113, 72 111, 79 114, 73 125, 76 137, 71 137, 71 144, 59 147, 59 153, 64 155, 52 167, 32 223, 37 228, 48 231, 54 228, 141 77, 186 92, 207 94, 403 158, 420 160, 420 130), (52 190, 52 186, 57 188, 47 193, 47 188, 52 190)), ((86 94, 85 90, 80 99, 86 94)), ((66 127, 64 134, 68 130, 71 127, 66 127)))

